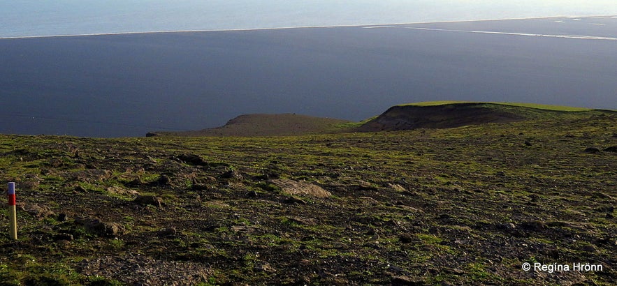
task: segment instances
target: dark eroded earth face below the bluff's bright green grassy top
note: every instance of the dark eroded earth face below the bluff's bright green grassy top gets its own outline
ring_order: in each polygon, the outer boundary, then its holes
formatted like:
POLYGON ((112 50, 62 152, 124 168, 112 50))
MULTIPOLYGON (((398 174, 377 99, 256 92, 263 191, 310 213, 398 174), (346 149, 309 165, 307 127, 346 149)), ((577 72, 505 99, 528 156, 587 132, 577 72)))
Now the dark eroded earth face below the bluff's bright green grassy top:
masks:
POLYGON ((522 116, 479 103, 436 106, 393 106, 359 128, 361 131, 395 131, 416 128, 454 128, 522 120, 522 116))

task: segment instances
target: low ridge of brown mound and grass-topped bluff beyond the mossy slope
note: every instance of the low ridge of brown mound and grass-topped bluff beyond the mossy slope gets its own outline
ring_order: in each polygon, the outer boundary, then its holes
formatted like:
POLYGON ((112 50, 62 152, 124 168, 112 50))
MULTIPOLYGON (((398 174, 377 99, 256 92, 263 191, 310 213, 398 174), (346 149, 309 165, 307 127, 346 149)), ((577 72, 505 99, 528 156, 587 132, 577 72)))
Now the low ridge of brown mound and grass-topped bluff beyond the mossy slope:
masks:
POLYGON ((456 128, 538 119, 569 120, 602 114, 617 114, 617 112, 531 103, 433 101, 395 105, 379 116, 361 122, 299 114, 245 114, 217 128, 184 132, 154 132, 146 136, 252 137, 381 132, 419 128, 456 128))

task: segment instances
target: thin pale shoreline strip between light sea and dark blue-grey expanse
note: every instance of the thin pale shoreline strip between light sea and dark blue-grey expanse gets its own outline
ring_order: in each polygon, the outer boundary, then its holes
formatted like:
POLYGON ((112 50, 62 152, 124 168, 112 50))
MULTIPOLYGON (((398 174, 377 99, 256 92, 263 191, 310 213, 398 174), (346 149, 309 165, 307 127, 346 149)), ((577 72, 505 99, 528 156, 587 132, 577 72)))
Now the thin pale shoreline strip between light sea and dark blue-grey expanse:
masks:
POLYGON ((507 20, 540 20, 551 18, 604 18, 617 17, 617 15, 555 15, 546 17, 513 17, 513 18, 491 18, 479 20, 452 20, 452 21, 430 21, 430 22, 399 22, 399 23, 377 23, 377 24, 342 24, 342 25, 312 25, 312 26, 290 26, 290 27, 263 27, 263 28, 238 28, 238 29, 186 29, 186 30, 164 30, 164 31, 118 31, 108 33, 76 33, 76 34, 58 34, 58 35, 40 35, 40 36, 0 36, 0 40, 12 39, 29 39, 29 38, 68 38, 68 37, 86 37, 86 36, 115 36, 115 35, 138 35, 150 33, 198 33, 198 32, 223 32, 223 31, 267 31, 267 30, 284 30, 284 29, 319 29, 319 28, 338 28, 338 27, 372 27, 382 28, 386 25, 406 25, 406 24, 440 24, 440 23, 464 23, 464 22, 488 22, 488 21, 507 21, 507 20))

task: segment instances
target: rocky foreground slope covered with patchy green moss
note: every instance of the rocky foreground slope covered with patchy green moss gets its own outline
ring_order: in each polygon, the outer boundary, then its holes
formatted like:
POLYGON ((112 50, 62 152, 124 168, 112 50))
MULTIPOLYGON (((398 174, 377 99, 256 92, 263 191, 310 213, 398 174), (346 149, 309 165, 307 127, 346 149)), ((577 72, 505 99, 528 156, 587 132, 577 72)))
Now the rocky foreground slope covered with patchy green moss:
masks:
MULTIPOLYGON (((0 135, 0 178, 22 204, 18 241, 0 236, 0 285, 146 283, 89 267, 135 255, 209 269, 191 280, 203 285, 615 285, 617 154, 585 152, 617 145, 615 123, 576 112, 295 137, 0 135), (333 196, 289 200, 274 178, 333 196), (82 218, 119 230, 92 232, 82 218)), ((2 210, 5 234, 7 224, 2 210)))

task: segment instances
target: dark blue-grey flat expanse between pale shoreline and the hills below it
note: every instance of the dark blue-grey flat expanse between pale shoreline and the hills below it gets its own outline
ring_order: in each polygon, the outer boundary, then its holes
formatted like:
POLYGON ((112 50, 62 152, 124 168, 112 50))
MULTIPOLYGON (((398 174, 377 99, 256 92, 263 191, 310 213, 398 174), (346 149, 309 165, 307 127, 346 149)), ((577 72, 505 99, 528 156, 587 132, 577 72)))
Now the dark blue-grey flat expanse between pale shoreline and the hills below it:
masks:
POLYGON ((0 133, 143 136, 247 113, 474 100, 617 110, 617 17, 0 39, 0 133))

